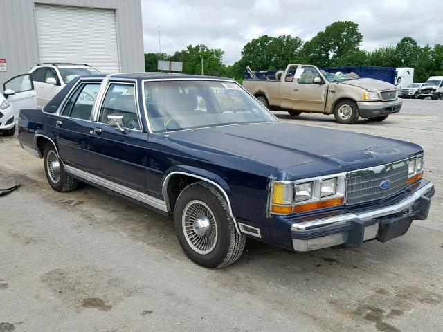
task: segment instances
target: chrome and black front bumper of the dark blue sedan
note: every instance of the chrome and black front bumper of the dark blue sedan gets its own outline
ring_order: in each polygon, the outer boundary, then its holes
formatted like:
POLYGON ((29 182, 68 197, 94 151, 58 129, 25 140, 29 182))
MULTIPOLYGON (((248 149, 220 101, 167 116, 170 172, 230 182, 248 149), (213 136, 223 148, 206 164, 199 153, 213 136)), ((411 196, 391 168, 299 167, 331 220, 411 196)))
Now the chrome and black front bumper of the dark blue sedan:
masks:
POLYGON ((356 247, 363 241, 377 239, 384 242, 401 236, 413 219, 428 217, 434 194, 433 183, 427 182, 392 205, 293 223, 293 250, 309 251, 339 244, 356 247))

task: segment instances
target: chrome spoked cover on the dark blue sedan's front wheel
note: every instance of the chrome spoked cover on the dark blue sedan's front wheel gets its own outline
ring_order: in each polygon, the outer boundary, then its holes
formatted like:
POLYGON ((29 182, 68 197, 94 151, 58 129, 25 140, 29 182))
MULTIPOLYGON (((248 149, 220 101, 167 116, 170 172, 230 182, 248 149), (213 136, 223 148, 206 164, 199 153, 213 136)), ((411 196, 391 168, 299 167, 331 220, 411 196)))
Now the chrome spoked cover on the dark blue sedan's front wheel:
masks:
POLYGON ((186 204, 181 226, 192 250, 201 255, 213 251, 217 244, 217 223, 208 205, 198 200, 186 204))

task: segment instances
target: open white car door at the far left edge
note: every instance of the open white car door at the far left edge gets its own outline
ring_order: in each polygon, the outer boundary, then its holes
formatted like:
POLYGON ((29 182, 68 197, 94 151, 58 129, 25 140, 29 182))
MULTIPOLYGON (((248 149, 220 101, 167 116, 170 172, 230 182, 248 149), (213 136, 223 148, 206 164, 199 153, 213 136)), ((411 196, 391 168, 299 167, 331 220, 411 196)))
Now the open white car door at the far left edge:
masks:
POLYGON ((29 74, 12 77, 3 84, 3 91, 12 90, 15 94, 8 96, 8 102, 12 104, 15 118, 19 117, 21 109, 37 108, 37 93, 35 93, 33 80, 29 74))

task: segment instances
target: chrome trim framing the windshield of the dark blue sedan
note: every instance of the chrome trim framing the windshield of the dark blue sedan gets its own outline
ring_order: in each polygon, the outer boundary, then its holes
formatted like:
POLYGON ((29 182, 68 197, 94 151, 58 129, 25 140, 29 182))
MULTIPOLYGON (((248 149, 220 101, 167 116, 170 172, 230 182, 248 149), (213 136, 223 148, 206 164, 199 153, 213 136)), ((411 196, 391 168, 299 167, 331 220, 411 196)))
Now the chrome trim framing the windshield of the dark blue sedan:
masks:
MULTIPOLYGON (((147 122, 147 127, 149 129, 150 133, 154 133, 152 131, 151 128, 151 124, 150 124, 150 118, 147 115, 147 107, 146 107, 146 98, 145 98, 145 83, 147 82, 167 82, 167 81, 218 81, 218 82, 230 82, 230 83, 235 83, 237 84, 237 86, 239 86, 243 91, 245 91, 246 93, 248 93, 248 95, 250 95, 252 98, 254 98, 257 101, 257 98, 254 97, 254 95, 252 95, 249 91, 247 91, 246 89, 244 89, 244 87, 240 84, 238 84, 237 81, 235 80, 230 80, 230 79, 223 79, 223 78, 186 78, 186 77, 181 77, 181 78, 169 78, 169 77, 165 77, 165 78, 152 78, 152 79, 144 79, 141 80, 141 84, 142 84, 142 98, 143 98, 143 110, 145 113, 145 117, 146 117, 146 122, 147 122)), ((257 101, 257 104, 260 105, 260 107, 262 107, 262 109, 264 109, 266 112, 268 112, 269 114, 271 114, 271 116, 276 120, 275 122, 281 122, 279 118, 277 118, 277 116, 275 116, 274 113, 272 113, 269 109, 266 109, 266 107, 264 107, 264 105, 261 102, 257 101)), ((257 124, 257 123, 275 123, 275 122, 251 122, 251 123, 242 123, 242 124, 257 124)), ((213 126, 208 126, 208 127, 200 127, 200 128, 188 128, 188 129, 179 129, 179 130, 174 130, 171 132, 178 132, 178 131, 185 131, 185 130, 197 130, 197 129, 204 129, 204 128, 214 128, 214 127, 225 127, 225 126, 232 126, 232 125, 239 125, 239 124, 221 124, 221 125, 213 125, 213 126)), ((166 131, 156 131, 155 133, 157 134, 165 134, 166 131)), ((168 132, 169 133, 169 132, 168 132)))

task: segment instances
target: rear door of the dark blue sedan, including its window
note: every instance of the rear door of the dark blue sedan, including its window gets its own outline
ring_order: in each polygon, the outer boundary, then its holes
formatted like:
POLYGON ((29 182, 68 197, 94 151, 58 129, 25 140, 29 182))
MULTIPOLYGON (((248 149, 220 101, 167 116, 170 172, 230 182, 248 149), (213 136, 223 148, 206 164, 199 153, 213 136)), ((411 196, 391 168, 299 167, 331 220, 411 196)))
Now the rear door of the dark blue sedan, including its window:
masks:
POLYGON ((79 168, 88 167, 89 137, 96 127, 91 121, 91 111, 100 82, 84 82, 73 91, 60 116, 55 116, 60 157, 64 163, 79 168))

